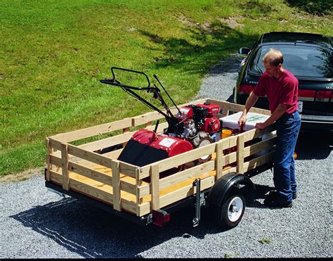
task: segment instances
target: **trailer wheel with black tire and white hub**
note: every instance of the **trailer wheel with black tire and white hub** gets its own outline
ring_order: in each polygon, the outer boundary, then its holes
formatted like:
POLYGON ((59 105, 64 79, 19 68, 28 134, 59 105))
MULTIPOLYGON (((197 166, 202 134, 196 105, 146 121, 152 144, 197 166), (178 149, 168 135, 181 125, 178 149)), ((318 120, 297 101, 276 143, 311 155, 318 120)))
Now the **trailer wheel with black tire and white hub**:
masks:
POLYGON ((216 222, 223 229, 236 227, 243 217, 245 198, 239 193, 231 194, 220 206, 216 206, 216 222))

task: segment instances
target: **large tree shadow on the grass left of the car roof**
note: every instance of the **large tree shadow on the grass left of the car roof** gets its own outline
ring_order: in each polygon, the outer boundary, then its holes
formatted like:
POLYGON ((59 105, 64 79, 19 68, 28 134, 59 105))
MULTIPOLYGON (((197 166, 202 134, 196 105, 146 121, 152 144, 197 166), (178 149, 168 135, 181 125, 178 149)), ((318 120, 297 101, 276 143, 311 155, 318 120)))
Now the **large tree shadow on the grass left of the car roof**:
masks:
POLYGON ((204 75, 211 66, 241 46, 253 44, 259 34, 244 34, 237 28, 215 21, 207 26, 185 27, 188 39, 164 38, 145 30, 139 30, 151 42, 162 45, 163 58, 155 58, 156 68, 173 67, 177 70, 204 75))

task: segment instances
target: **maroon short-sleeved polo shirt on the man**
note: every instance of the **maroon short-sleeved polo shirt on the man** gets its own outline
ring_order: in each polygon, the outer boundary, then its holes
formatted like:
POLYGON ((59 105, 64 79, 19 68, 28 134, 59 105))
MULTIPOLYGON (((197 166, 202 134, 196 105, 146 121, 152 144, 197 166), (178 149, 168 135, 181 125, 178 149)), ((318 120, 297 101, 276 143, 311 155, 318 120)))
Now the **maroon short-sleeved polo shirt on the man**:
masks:
POLYGON ((299 80, 285 69, 279 78, 268 77, 267 72, 263 72, 253 92, 256 96, 267 96, 270 113, 273 113, 279 104, 287 104, 286 113, 290 114, 298 107, 298 89, 299 80))

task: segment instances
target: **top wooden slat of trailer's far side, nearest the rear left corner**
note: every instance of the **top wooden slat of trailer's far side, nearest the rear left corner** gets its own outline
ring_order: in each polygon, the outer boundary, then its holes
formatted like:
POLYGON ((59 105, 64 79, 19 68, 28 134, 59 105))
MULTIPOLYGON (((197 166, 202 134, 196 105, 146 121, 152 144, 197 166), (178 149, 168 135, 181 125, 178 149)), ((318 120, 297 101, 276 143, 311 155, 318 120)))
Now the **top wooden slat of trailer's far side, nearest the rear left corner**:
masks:
POLYGON ((51 136, 53 139, 57 139, 63 142, 78 141, 79 139, 88 138, 90 136, 96 136, 99 134, 104 134, 107 132, 113 132, 118 129, 124 129, 126 127, 131 127, 131 118, 125 118, 124 120, 117 120, 115 122, 108 122, 103 125, 97 125, 85 129, 79 129, 74 132, 67 132, 63 134, 58 134, 51 136))

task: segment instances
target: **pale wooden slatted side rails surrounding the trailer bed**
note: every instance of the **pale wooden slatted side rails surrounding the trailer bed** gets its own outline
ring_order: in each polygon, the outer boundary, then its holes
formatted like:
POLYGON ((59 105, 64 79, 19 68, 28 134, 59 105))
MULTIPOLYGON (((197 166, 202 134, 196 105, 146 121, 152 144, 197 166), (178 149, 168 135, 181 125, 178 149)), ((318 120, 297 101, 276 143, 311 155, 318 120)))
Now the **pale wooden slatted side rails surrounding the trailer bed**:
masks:
MULTIPOLYGON (((204 103, 204 101, 207 99, 190 103, 204 103)), ((244 108, 244 106, 225 101, 213 99, 208 101, 223 108, 221 116, 228 115, 229 110, 237 112, 244 108)), ((173 110, 176 113, 176 108, 173 110)), ((251 111, 269 114, 268 110, 252 108, 251 111)), ((158 210, 196 193, 192 181, 197 177, 201 179, 201 189, 209 189, 224 174, 235 171, 244 173, 269 163, 273 158, 276 143, 274 135, 256 144, 247 145, 256 137, 273 132, 273 127, 263 130, 252 129, 143 167, 117 160, 122 149, 105 154, 96 153, 101 148, 128 141, 134 133, 129 131, 130 127, 145 125, 148 129, 154 129, 155 126, 151 126, 151 122, 162 117, 156 112, 146 113, 48 137, 46 139, 46 180, 60 184, 65 190, 77 191, 101 200, 112 205, 115 210, 125 210, 141 217, 152 210, 158 210), (119 130, 123 133, 117 136, 79 146, 70 144, 72 141, 119 130), (237 149, 235 149, 236 146, 237 149), (256 155, 264 150, 266 150, 264 155, 256 155), (159 177, 161 172, 191 163, 205 155, 212 155, 207 163, 189 167, 168 177, 159 177), (253 158, 253 155, 256 155, 256 158, 253 158), (150 178, 150 182, 145 181, 147 178, 150 178)), ((160 124, 158 132, 166 126, 166 122, 160 124)))

